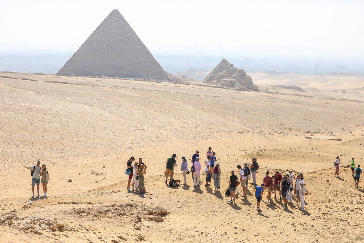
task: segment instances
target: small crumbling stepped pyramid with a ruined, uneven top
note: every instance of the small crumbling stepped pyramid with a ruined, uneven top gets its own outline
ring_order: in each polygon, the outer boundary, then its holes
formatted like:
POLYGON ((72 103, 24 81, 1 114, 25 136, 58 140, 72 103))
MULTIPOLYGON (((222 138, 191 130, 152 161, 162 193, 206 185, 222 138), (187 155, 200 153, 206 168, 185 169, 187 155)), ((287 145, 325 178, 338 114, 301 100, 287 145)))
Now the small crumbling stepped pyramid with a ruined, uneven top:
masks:
POLYGON ((233 90, 258 90, 252 78, 242 69, 234 67, 226 59, 222 59, 206 76, 205 83, 211 86, 224 87, 233 90))

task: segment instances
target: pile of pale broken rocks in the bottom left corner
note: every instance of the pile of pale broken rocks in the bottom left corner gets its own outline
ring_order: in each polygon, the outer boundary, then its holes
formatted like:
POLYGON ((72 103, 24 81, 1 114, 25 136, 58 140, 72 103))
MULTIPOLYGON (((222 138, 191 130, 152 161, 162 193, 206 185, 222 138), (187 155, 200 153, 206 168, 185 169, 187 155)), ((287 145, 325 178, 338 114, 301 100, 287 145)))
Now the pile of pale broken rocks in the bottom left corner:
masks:
POLYGON ((79 231, 76 228, 65 226, 57 219, 45 219, 39 216, 18 217, 15 211, 0 217, 0 225, 16 228, 25 232, 43 235, 44 232, 79 231))

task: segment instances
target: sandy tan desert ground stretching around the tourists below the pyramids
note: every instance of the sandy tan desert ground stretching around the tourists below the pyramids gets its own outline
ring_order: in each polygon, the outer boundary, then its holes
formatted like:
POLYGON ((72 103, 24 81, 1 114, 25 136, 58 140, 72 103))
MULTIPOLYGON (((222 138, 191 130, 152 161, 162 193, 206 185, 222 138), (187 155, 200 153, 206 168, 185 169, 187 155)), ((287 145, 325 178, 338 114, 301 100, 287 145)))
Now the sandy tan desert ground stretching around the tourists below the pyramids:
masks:
POLYGON ((364 241, 364 182, 356 189, 350 168, 333 176, 336 156, 343 166, 352 157, 364 164, 363 75, 252 74, 262 92, 197 82, 0 76, 0 242, 139 242, 138 235, 145 242, 364 241), (187 186, 165 184, 171 154, 178 156, 175 178, 182 179, 181 157, 196 149, 203 157, 209 146, 221 163, 221 193, 194 189, 190 177, 187 186), (126 191, 130 156, 148 166, 146 195, 126 191), (251 184, 248 197, 227 203, 226 177, 252 157, 258 182, 266 170, 302 171, 306 211, 268 203, 265 194, 258 213, 251 184), (38 159, 51 180, 48 197, 32 200, 30 171, 21 163, 38 159))

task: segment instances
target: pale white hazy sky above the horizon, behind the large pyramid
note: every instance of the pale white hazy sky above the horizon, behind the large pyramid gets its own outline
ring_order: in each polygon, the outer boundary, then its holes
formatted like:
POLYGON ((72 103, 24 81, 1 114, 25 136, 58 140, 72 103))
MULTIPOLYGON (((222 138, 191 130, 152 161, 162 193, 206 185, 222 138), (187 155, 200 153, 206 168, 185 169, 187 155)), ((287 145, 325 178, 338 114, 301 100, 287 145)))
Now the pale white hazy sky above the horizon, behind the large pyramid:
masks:
POLYGON ((153 54, 363 58, 362 0, 0 0, 0 50, 75 51, 117 8, 153 54))

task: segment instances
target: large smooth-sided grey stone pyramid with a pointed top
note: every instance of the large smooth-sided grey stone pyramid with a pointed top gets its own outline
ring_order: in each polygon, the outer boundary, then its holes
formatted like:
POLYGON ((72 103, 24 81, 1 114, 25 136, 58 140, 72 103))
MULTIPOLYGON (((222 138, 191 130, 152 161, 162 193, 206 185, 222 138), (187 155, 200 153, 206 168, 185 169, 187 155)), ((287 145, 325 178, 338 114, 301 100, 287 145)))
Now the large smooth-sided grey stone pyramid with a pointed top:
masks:
POLYGON ((57 74, 169 80, 118 9, 109 13, 57 74))

